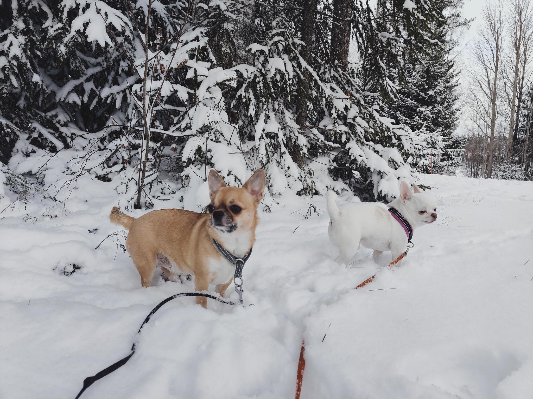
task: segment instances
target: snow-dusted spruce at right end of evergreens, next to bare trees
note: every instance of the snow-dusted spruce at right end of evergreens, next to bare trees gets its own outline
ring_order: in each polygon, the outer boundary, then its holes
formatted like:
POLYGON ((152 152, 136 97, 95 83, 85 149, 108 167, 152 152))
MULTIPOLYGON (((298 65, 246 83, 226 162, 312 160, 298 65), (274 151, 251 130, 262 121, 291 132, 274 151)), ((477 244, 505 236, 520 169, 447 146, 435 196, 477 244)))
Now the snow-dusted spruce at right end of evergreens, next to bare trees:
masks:
MULTIPOLYGON (((440 1, 436 6, 447 13, 447 9, 460 7, 455 3, 440 1)), ((463 159, 465 139, 455 134, 460 114, 459 82, 450 34, 466 23, 457 15, 433 21, 424 51, 416 54, 414 61, 406 57, 395 73, 398 96, 387 105, 388 115, 427 143, 416 165, 424 173, 455 173, 463 159)))

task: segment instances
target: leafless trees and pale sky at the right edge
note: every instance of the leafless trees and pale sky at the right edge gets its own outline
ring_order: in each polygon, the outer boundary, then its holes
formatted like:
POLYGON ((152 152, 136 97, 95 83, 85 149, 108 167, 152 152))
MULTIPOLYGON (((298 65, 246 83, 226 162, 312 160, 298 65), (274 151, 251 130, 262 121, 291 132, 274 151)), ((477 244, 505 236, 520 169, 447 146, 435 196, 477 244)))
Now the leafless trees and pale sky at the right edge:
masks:
POLYGON ((488 2, 466 54, 465 172, 475 178, 531 180, 533 6, 488 2))

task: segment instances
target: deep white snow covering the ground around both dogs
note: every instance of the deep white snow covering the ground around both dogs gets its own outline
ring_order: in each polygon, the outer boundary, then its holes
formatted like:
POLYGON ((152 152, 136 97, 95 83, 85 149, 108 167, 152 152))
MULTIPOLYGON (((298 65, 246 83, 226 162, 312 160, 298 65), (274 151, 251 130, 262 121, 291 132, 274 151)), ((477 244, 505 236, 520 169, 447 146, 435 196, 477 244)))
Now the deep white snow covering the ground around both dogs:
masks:
POLYGON ((287 194, 268 200, 244 269, 255 306, 177 298, 139 336, 152 307, 193 288, 158 276, 142 288, 110 239, 94 249, 119 230, 112 184, 86 175, 64 208, 15 203, 0 214, 0 397, 74 398, 137 340, 82 398, 292 398, 304 338, 302 399, 531 399, 533 182, 421 182, 439 219, 415 231, 401 268, 351 289, 377 271, 370 251, 340 267, 324 198, 287 194))

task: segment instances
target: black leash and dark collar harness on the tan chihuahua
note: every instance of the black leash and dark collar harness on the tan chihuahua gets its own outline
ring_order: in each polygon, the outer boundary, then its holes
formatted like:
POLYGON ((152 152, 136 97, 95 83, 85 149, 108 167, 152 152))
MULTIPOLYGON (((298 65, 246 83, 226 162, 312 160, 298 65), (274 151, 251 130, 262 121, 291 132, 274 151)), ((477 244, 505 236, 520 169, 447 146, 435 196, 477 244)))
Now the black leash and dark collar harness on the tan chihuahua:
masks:
MULTIPOLYGON (((233 282, 235 282, 235 290, 236 290, 237 294, 239 294, 239 303, 242 305, 243 304, 243 268, 244 268, 244 264, 246 263, 246 261, 248 260, 250 255, 252 254, 252 248, 250 248, 250 252, 248 252, 248 254, 241 259, 241 258, 233 255, 231 252, 225 250, 224 247, 222 245, 220 245, 219 243, 217 243, 213 238, 211 238, 211 240, 212 240, 213 245, 216 248, 216 250, 222 256, 224 256, 224 258, 227 259, 228 262, 230 262, 230 263, 235 265, 235 276, 233 277, 233 282), (236 279, 240 279, 240 284, 237 284, 237 280, 236 279)), ((214 296, 214 295, 209 295, 209 294, 202 294, 202 293, 195 293, 195 292, 184 292, 184 293, 181 293, 181 294, 175 294, 175 295, 169 296, 165 300, 159 302, 159 304, 156 307, 154 307, 154 309, 152 309, 152 311, 148 314, 146 319, 144 319, 144 321, 142 322, 141 327, 139 327, 139 331, 137 331, 137 334, 139 334, 139 332, 141 332, 141 329, 144 327, 144 325, 146 323, 148 323, 148 321, 152 317, 152 314, 157 312, 161 306, 163 306, 165 303, 167 303, 169 301, 172 301, 174 298, 178 298, 178 297, 182 297, 182 296, 201 296, 201 297, 204 297, 204 298, 214 299, 215 301, 219 301, 219 302, 225 303, 227 305, 236 305, 235 302, 224 301, 220 297, 217 297, 217 296, 214 296)), ((78 393, 78 395, 76 396, 75 399, 79 399, 79 397, 82 396, 82 394, 84 393, 85 389, 87 389, 88 387, 93 385, 96 381, 98 381, 99 379, 102 379, 103 377, 106 377, 108 374, 112 373, 116 369, 118 369, 118 368, 122 367, 124 364, 126 364, 127 361, 130 360, 130 358, 133 356, 134 353, 135 353, 135 343, 133 343, 133 345, 132 345, 132 349, 131 349, 130 354, 127 355, 124 359, 120 359, 118 362, 111 364, 109 367, 103 369, 102 371, 99 371, 98 373, 96 373, 92 377, 85 378, 83 380, 83 388, 82 388, 82 390, 79 391, 79 393, 78 393)))

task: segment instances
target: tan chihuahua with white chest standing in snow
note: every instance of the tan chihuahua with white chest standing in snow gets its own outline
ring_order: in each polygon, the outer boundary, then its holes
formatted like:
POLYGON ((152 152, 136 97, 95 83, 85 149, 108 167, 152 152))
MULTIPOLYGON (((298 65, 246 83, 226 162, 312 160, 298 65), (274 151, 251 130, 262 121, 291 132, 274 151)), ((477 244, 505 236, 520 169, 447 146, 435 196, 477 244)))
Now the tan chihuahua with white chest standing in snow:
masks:
MULTIPOLYGON (((224 296, 231 284, 235 265, 222 257, 211 238, 237 257, 246 255, 255 241, 257 206, 265 188, 265 172, 256 171, 242 188, 226 187, 215 171, 209 171, 209 213, 183 209, 161 209, 135 219, 115 206, 109 219, 130 230, 126 250, 141 275, 143 287, 151 285, 156 267, 171 281, 181 273, 195 277, 196 291, 216 285, 224 296)), ((207 298, 197 297, 206 307, 207 298)))

